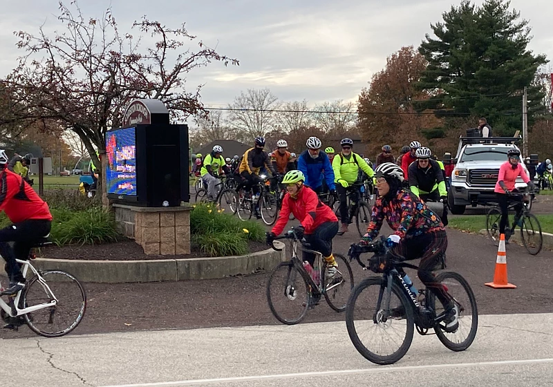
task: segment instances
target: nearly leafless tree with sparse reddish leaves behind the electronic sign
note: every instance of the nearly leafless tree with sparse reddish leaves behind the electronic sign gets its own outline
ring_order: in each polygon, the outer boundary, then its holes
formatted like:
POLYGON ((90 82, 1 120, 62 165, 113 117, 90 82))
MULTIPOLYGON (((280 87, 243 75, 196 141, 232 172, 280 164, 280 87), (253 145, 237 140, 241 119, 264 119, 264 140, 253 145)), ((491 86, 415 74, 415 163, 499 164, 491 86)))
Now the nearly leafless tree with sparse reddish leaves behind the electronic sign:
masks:
POLYGON ((84 17, 77 1, 60 2, 59 11, 66 30, 54 37, 43 28, 38 35, 16 32, 26 54, 6 80, 14 108, 0 124, 57 120, 79 136, 97 165, 95 148, 105 150, 106 131, 121 125, 131 100, 157 98, 182 119, 203 109, 201 86, 185 91, 189 71, 213 61, 238 64, 190 35, 184 24, 169 28, 144 17, 133 23, 134 37, 120 32, 111 8, 100 19, 84 17), (141 48, 146 34, 156 41, 141 48), (191 42, 198 48, 186 49, 191 42))

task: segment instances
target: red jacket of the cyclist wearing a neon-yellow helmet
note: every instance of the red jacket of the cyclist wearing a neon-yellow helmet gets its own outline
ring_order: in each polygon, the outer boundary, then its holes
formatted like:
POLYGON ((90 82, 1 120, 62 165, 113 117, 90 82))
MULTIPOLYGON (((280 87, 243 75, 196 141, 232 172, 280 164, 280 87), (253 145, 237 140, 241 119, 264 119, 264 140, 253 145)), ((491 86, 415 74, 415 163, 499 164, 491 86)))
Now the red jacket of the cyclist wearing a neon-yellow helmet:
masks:
POLYGON ((305 227, 306 234, 312 234, 317 227, 325 222, 337 222, 338 218, 332 212, 332 209, 319 200, 317 193, 309 187, 303 186, 298 193, 297 198, 292 199, 290 193, 286 193, 282 200, 282 209, 277 223, 272 228, 275 235, 283 232, 290 212, 305 227))

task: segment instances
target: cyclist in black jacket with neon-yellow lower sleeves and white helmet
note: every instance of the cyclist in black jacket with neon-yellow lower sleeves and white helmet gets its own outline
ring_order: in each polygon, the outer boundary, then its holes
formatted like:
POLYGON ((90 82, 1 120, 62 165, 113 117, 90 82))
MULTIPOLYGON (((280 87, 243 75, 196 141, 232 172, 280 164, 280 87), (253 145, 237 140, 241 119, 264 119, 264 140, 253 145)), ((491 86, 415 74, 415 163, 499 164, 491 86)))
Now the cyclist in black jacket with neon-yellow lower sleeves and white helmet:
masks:
POLYGON ((441 202, 444 205, 442 223, 447 226, 447 190, 440 164, 431 158, 427 147, 418 148, 415 155, 417 161, 409 165, 409 189, 423 201, 441 202))

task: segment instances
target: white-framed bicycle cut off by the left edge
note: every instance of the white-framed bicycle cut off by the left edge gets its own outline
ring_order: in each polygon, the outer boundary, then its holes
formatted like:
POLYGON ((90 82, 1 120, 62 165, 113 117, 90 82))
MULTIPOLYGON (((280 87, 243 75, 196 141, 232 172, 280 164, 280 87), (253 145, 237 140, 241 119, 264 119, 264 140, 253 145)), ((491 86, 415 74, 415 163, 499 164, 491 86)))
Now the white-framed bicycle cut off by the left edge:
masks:
MULTIPOLYGON (((33 247, 51 245, 48 240, 33 247)), ((62 337, 82 321, 86 311, 86 292, 79 281, 62 270, 37 270, 28 261, 17 259, 22 265, 22 274, 28 270, 34 274, 27 285, 8 301, 0 298, 0 315, 6 328, 17 330, 26 323, 32 332, 44 337, 62 337), (55 328, 58 327, 59 328, 55 328)), ((0 293, 0 296, 3 294, 0 293)))

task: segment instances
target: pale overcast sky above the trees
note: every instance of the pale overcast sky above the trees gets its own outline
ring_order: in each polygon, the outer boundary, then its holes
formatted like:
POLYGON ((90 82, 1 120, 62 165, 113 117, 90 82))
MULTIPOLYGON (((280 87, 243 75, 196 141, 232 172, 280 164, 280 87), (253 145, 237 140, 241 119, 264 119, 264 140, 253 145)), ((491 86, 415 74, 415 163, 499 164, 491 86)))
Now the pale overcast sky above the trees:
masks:
MULTIPOLYGON (((69 3, 69 1, 66 1, 69 3)), ((0 0, 0 75, 16 64, 15 30, 59 27, 57 0, 0 0)), ((386 56, 402 46, 419 46, 430 23, 441 21, 451 0, 81 0, 86 17, 100 17, 111 3, 120 30, 147 15, 167 26, 186 22, 192 35, 235 57, 240 66, 213 63, 195 69, 188 89, 205 84, 207 106, 224 106, 247 88, 268 87, 283 101, 356 100, 386 56)), ((481 1, 476 1, 481 3, 481 1)), ((553 1, 513 0, 529 19, 529 48, 553 58, 553 1)), ((196 48, 196 47, 194 47, 196 48)))

